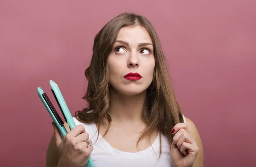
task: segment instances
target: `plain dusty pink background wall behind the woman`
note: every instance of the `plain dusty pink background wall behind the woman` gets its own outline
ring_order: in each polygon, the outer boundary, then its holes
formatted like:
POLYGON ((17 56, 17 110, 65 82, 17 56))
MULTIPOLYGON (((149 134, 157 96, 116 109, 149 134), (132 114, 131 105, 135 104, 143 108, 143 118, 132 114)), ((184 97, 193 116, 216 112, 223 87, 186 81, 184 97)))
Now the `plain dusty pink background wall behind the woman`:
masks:
POLYGON ((177 99, 201 135, 205 167, 254 166, 255 0, 1 0, 1 166, 45 167, 53 128, 37 87, 58 108, 52 79, 72 114, 83 108, 93 39, 125 11, 156 28, 177 99))

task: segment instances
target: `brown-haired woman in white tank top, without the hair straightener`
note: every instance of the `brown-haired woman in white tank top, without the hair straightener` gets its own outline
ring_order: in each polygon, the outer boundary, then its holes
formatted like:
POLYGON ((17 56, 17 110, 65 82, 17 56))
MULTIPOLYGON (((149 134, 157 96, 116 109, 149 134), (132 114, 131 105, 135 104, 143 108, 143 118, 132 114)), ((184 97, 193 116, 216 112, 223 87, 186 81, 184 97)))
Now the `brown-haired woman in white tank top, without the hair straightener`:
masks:
POLYGON ((203 167, 197 128, 180 110, 145 17, 125 13, 108 22, 85 76, 89 107, 76 112, 64 139, 53 124, 47 167, 84 167, 89 156, 95 167, 203 167))

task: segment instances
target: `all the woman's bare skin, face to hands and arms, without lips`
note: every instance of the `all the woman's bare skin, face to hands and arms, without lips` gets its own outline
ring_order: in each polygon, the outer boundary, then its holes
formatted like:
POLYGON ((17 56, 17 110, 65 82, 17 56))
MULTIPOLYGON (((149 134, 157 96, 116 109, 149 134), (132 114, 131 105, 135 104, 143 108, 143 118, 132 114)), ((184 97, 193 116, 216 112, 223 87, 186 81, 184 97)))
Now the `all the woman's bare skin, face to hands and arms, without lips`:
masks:
MULTIPOLYGON (((142 139, 137 149, 137 140, 146 126, 141 113, 146 89, 153 79, 155 67, 153 53, 152 40, 145 28, 123 27, 108 57, 111 80, 109 114, 112 123, 104 139, 111 147, 118 150, 130 153, 145 150, 157 137, 158 132, 155 131, 150 139, 142 139), (124 76, 130 72, 139 73, 142 79, 137 81, 125 79, 124 76)), ((84 126, 77 125, 70 131, 66 123, 65 126, 68 133, 64 139, 54 126, 54 134, 47 150, 47 167, 83 167, 93 151, 93 146, 87 147, 83 142, 89 138, 84 126)), ((107 127, 108 122, 102 120, 99 133, 103 135, 107 127)), ((203 147, 195 124, 186 118, 186 124, 177 124, 173 129, 175 134, 171 146, 173 167, 203 167, 203 147)))

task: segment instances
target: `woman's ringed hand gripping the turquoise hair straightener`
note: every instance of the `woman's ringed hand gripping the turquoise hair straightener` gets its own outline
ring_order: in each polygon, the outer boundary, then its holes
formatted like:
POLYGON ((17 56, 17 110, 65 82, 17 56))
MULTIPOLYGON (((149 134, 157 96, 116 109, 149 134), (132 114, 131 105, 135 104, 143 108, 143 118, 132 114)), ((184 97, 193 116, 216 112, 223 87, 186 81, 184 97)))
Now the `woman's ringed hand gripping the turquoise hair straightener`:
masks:
POLYGON ((54 136, 58 148, 58 167, 85 167, 93 151, 92 141, 83 125, 73 127, 62 139, 61 133, 54 127, 54 136), (89 147, 85 141, 90 142, 89 147))

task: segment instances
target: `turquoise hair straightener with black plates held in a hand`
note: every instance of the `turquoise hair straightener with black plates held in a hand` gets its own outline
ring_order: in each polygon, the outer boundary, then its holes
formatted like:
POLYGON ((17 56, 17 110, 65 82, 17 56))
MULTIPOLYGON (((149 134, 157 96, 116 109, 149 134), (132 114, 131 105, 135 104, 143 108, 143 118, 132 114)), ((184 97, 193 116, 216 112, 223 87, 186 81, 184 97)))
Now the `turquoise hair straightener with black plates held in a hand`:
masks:
MULTIPOLYGON (((67 122, 67 124, 70 127, 70 130, 76 126, 69 109, 67 108, 67 104, 61 94, 60 89, 58 88, 58 85, 50 80, 50 85, 52 87, 52 93, 53 96, 55 97, 55 100, 58 103, 59 108, 61 109, 61 113, 64 116, 65 121, 67 122)), ((57 111, 55 110, 55 108, 52 105, 52 102, 50 101, 49 97, 47 96, 46 93, 44 93, 44 91, 38 87, 37 89, 38 91, 38 96, 40 97, 40 99, 42 100, 42 102, 44 103, 44 106, 46 107, 46 109, 48 110, 50 116, 52 117, 52 120, 54 121, 55 125, 58 127, 58 130, 61 133, 61 136, 64 138, 64 136, 67 134, 67 130, 64 127, 64 123, 61 120, 60 116, 58 115, 57 111)), ((89 157, 89 160, 87 161, 86 167, 94 167, 93 164, 93 160, 91 159, 91 156, 89 157)))

